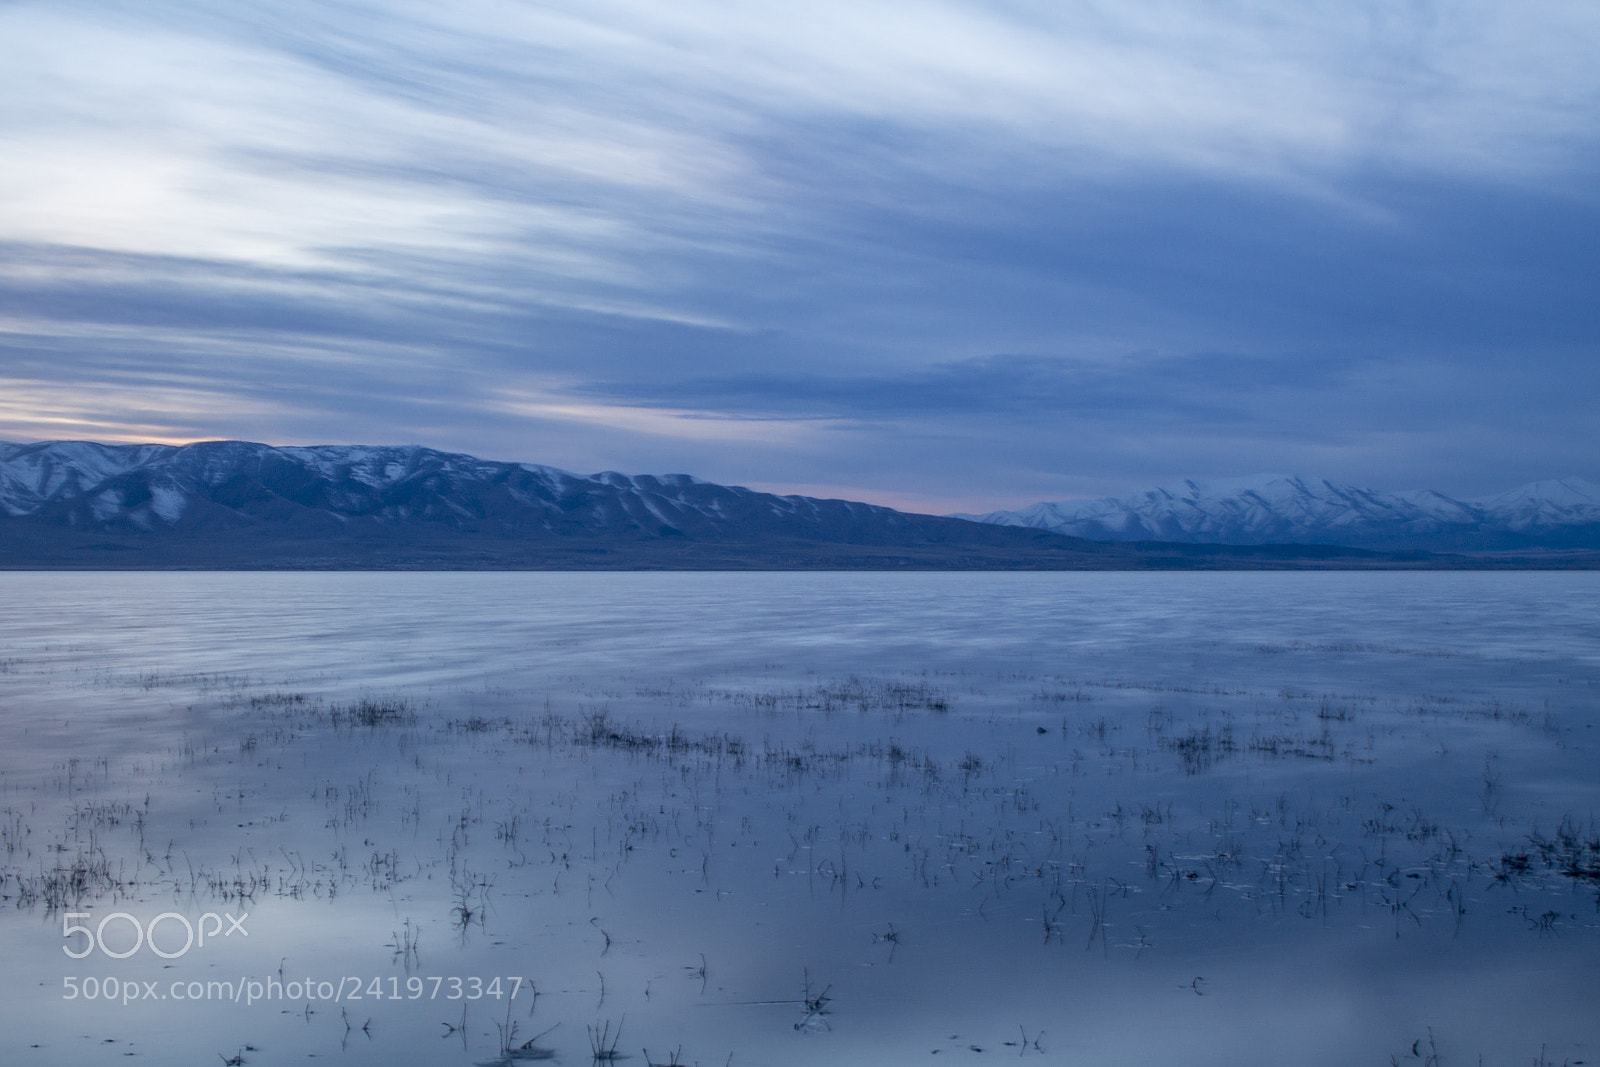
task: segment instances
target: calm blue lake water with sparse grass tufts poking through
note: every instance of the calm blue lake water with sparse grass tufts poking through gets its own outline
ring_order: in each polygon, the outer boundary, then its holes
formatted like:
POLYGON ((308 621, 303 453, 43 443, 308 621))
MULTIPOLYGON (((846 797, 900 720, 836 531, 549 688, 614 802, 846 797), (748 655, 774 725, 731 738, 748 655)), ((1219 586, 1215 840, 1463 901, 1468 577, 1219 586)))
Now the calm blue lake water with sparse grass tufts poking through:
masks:
POLYGON ((0 1061, 1600 1062, 1597 704, 1597 574, 3 574, 0 1061))

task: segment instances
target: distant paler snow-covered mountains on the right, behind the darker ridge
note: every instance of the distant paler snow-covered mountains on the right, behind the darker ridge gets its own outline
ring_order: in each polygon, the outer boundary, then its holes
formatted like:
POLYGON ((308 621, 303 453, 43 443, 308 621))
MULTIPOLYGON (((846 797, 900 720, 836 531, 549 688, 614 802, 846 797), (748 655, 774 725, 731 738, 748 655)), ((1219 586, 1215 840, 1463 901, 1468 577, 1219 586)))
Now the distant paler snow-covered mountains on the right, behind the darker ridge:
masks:
POLYGON ((1600 547, 1600 486, 1563 478, 1458 501, 1432 490, 1379 493, 1326 480, 1258 475, 958 518, 1093 541, 1434 552, 1600 547))

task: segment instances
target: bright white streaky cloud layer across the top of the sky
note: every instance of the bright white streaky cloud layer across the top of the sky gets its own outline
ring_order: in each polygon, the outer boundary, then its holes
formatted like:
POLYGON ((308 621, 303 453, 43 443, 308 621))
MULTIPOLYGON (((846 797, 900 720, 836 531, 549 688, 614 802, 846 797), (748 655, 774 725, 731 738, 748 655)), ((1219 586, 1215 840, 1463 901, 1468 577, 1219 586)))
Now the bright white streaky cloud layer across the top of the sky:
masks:
POLYGON ((1600 93, 1581 3, 154 0, 18 3, 0 26, 27 102, 3 237, 283 266, 515 245, 603 275, 662 230, 760 229, 805 184, 792 134, 824 174, 848 149, 846 171, 875 155, 973 187, 1536 179, 1594 147, 1600 93))

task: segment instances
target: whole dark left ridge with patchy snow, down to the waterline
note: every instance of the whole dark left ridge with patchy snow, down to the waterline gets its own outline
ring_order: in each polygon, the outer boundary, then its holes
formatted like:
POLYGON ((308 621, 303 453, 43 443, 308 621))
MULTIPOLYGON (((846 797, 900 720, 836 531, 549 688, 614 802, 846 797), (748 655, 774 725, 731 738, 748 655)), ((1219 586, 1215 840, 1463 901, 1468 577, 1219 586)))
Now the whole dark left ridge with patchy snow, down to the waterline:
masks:
POLYGON ((723 550, 728 558, 709 555, 709 542, 760 545, 768 555, 784 545, 814 555, 819 544, 946 555, 1072 545, 1042 531, 995 533, 1002 531, 682 474, 578 475, 419 446, 0 445, 0 565, 11 566, 90 557, 99 560, 94 565, 115 558, 302 565, 323 558, 315 555, 318 545, 328 545, 330 566, 554 565, 562 553, 581 565, 584 552, 632 553, 640 565, 682 565, 685 552, 699 552, 694 558, 702 561, 739 561, 728 555, 733 550, 723 550), (674 555, 669 542, 698 547, 674 555))

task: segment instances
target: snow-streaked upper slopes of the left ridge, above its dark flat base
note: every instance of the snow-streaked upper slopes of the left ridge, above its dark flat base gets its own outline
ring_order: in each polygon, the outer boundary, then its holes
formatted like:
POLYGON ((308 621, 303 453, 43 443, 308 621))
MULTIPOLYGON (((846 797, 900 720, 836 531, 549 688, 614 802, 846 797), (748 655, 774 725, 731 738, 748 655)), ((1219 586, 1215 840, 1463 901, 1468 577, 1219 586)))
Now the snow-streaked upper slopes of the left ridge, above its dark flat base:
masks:
POLYGON ((898 523, 888 507, 773 496, 690 475, 578 475, 430 448, 0 445, 0 509, 83 530, 440 523, 523 536, 726 536, 762 526, 898 523))

